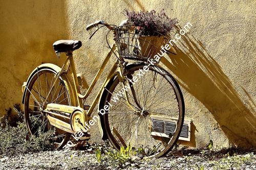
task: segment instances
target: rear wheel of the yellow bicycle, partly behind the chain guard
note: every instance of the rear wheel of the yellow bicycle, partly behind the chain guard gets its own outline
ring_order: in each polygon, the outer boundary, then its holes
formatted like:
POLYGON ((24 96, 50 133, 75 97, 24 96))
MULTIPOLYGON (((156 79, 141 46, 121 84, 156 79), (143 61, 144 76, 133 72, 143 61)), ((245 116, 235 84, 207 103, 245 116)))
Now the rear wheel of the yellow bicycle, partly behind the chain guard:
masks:
MULTIPOLYGON (((42 104, 49 94, 47 103, 71 105, 71 95, 68 85, 63 78, 59 77, 53 86, 57 72, 51 67, 37 68, 27 84, 24 100, 25 123, 31 135, 38 137, 42 133, 54 130, 51 141, 56 149, 62 149, 70 138, 70 133, 55 128, 43 112, 42 104), (53 89, 50 92, 50 89, 53 89)), ((65 120, 64 120, 65 121, 65 120)), ((67 119, 66 122, 69 122, 67 119)))

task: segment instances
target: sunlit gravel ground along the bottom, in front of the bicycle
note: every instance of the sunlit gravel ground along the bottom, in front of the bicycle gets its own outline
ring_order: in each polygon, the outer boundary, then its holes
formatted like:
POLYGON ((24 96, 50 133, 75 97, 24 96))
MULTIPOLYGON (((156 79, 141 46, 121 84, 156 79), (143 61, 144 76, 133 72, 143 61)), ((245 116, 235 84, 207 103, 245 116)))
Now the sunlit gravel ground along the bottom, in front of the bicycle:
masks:
MULTIPOLYGON (((254 151, 214 153, 189 151, 172 153, 154 160, 136 160, 122 169, 256 169, 254 151), (229 153, 231 153, 229 155, 229 153), (186 156, 184 156, 186 155, 186 156), (203 156, 204 155, 204 156, 203 156)), ((94 151, 45 151, 39 153, 0 155, 0 169, 120 169, 114 162, 98 163, 94 151)))

